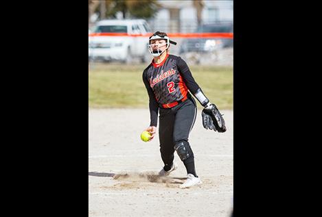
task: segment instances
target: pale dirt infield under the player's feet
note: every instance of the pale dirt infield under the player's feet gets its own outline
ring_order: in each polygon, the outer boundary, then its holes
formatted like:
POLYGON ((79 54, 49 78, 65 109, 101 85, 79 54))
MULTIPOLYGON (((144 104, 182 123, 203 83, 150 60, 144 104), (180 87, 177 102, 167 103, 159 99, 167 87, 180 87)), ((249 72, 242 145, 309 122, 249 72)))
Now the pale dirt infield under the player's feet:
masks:
POLYGON ((150 124, 148 110, 89 110, 89 216, 216 216, 229 217, 233 207, 233 112, 224 114, 227 132, 206 130, 198 110, 189 143, 203 184, 180 189, 185 166, 167 178, 159 136, 142 142, 150 124))

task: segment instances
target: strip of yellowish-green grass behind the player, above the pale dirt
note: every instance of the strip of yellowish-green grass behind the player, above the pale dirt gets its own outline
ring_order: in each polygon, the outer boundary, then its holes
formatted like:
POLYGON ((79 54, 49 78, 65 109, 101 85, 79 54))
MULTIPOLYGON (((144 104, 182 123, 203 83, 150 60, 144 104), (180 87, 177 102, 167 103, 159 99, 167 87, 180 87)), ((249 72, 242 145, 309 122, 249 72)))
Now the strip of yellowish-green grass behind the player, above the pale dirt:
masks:
MULTIPOLYGON (((90 64, 89 107, 148 107, 142 81, 147 64, 90 64)), ((190 66, 194 79, 220 110, 233 109, 233 67, 190 66)), ((200 105, 198 104, 198 107, 200 105)))

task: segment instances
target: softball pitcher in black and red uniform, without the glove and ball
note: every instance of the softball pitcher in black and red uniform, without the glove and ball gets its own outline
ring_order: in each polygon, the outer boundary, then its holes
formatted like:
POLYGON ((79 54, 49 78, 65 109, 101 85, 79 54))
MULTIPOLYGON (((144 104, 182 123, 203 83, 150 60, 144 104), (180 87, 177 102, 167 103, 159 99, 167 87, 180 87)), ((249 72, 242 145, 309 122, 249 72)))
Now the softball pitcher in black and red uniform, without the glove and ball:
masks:
POLYGON ((170 44, 176 42, 160 31, 149 38, 148 49, 154 58, 143 71, 150 108, 150 127, 146 131, 150 132, 152 140, 159 112, 159 142, 164 163, 159 175, 169 175, 176 170, 178 166, 173 162, 176 151, 187 170, 187 180, 180 188, 189 188, 202 183, 196 173, 194 153, 188 142, 197 114, 192 94, 204 107, 213 104, 203 94, 185 61, 169 54, 170 44))

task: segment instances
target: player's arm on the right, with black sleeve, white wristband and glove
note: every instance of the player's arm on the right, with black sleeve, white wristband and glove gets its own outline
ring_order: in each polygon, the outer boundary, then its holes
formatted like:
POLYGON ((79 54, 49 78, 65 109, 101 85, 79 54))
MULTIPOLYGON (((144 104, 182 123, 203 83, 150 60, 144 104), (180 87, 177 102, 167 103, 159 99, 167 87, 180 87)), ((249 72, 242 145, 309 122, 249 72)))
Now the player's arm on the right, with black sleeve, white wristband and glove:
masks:
POLYGON ((222 118, 222 114, 220 114, 214 103, 210 103, 209 99, 198 86, 194 80, 194 77, 192 76, 189 66, 187 66, 187 63, 181 58, 178 58, 177 66, 181 77, 183 77, 185 85, 204 107, 202 112, 203 127, 205 127, 205 129, 214 129, 214 131, 218 131, 220 133, 225 132, 225 120, 222 118))

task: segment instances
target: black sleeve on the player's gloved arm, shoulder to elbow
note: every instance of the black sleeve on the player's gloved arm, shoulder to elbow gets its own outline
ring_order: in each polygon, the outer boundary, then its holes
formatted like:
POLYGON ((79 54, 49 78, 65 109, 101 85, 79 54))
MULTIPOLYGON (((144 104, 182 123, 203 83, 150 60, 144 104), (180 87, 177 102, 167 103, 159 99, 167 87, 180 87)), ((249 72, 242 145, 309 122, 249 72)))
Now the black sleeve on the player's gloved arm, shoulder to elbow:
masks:
POLYGON ((187 88, 192 92, 192 94, 196 94, 197 90, 200 88, 196 81, 194 80, 194 77, 192 77, 192 73, 185 63, 185 60, 178 58, 176 62, 176 66, 178 66, 179 72, 183 78, 183 81, 185 82, 185 85, 187 88))

